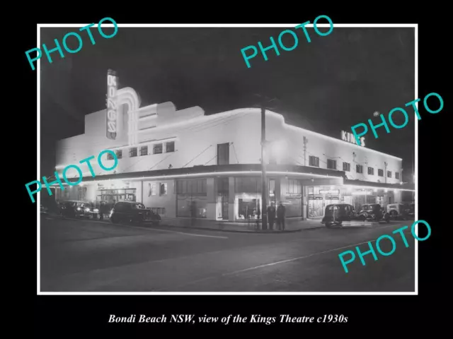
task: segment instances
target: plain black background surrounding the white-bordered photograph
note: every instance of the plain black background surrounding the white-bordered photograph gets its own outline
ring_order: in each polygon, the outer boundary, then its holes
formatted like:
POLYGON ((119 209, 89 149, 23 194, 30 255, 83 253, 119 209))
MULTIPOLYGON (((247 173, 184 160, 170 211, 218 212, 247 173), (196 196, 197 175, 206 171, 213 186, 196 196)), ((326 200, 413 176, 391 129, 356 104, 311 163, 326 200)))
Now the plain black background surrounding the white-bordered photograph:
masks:
MULTIPOLYGON (((128 3, 133 9, 126 11, 109 10, 118 8, 113 4, 105 3, 99 8, 81 3, 68 4, 71 7, 57 14, 57 7, 47 4, 48 11, 35 13, 31 8, 30 17, 22 17, 20 30, 10 31, 14 42, 7 44, 8 60, 14 61, 16 66, 5 65, 5 70, 11 71, 13 79, 12 90, 8 93, 13 100, 6 100, 6 119, 11 119, 5 135, 13 133, 19 136, 13 145, 4 148, 5 155, 13 154, 16 159, 7 159, 6 169, 13 179, 6 179, 11 184, 13 194, 18 194, 17 206, 20 212, 18 218, 13 218, 6 228, 11 228, 12 235, 5 232, 4 242, 13 244, 13 251, 4 260, 13 265, 7 279, 12 282, 17 292, 11 309, 8 309, 14 321, 18 321, 16 333, 30 328, 34 323, 35 335, 40 337, 64 338, 71 335, 84 335, 93 338, 110 336, 127 337, 171 335, 173 331, 191 335, 193 330, 206 331, 210 336, 220 335, 219 331, 231 331, 241 336, 256 336, 257 331, 265 331, 271 335, 304 336, 323 335, 329 331, 334 335, 348 335, 366 337, 372 333, 391 336, 396 331, 408 335, 420 333, 420 328, 431 328, 435 325, 440 331, 442 312, 447 312, 446 297, 448 293, 442 289, 442 282, 449 269, 448 265, 441 265, 447 253, 440 245, 440 239, 445 239, 445 230, 449 228, 446 218, 443 222, 440 216, 449 214, 448 200, 445 190, 449 191, 447 175, 447 160, 449 141, 447 134, 442 134, 440 126, 447 124, 447 115, 450 105, 447 97, 452 93, 451 86, 447 88, 447 64, 449 52, 449 33, 442 22, 440 14, 442 8, 420 6, 420 9, 408 6, 395 8, 382 2, 361 3, 360 7, 337 6, 333 8, 311 9, 306 4, 289 3, 273 4, 268 7, 262 2, 250 6, 248 10, 243 5, 228 3, 207 3, 204 8, 201 4, 190 3, 188 8, 182 4, 172 3, 171 9, 156 8, 155 3, 142 5, 128 3), (80 7, 79 7, 80 6, 80 7), (299 9, 297 9, 299 8, 299 9), (202 11, 205 11, 203 14, 202 11), (199 15, 196 17, 195 13, 199 15), (289 14, 291 13, 291 14, 289 14), (33 14, 33 17, 31 16, 33 14), (418 124, 418 219, 427 220, 432 227, 432 235, 425 242, 419 242, 418 268, 418 296, 354 296, 354 295, 311 295, 311 296, 38 296, 36 288, 36 204, 30 203, 25 190, 28 178, 35 175, 36 157, 36 72, 30 69, 24 52, 35 47, 35 23, 98 23, 101 18, 111 17, 117 23, 303 23, 314 20, 319 15, 327 15, 333 23, 418 23, 418 93, 423 98, 426 94, 436 92, 444 99, 444 109, 440 114, 429 114, 420 105, 420 114, 423 119, 418 124), (16 96, 16 97, 14 97, 16 96), (9 107, 8 107, 9 105, 9 107), (28 122, 25 122, 28 121, 28 122), (9 131, 8 131, 9 129, 9 131), (11 148, 12 150, 11 150, 11 148), (442 155, 441 155, 442 153, 442 155), (440 173, 445 175, 441 176, 440 173), (443 193, 442 193, 443 192, 443 193), (20 201, 20 202, 19 202, 20 201), (447 208, 446 208, 447 207, 447 208), (25 210, 24 210, 25 209, 25 210), (11 237, 11 239, 5 239, 11 237), (34 302, 33 302, 34 299, 34 302), (443 310, 445 309, 445 311, 443 310), (143 324, 143 323, 108 323, 110 314, 129 316, 130 314, 147 314, 159 316, 166 314, 196 314, 197 316, 227 316, 229 314, 261 314, 262 316, 323 316, 324 314, 343 314, 348 317, 348 323, 293 323, 266 326, 263 323, 222 323, 214 324, 143 324), (32 320, 33 319, 33 320, 32 320), (284 328, 283 328, 284 327, 284 328), (243 330, 247 328, 247 332, 243 330), (282 330, 292 330, 282 331, 282 330), (274 333, 275 331, 275 333, 274 333), (95 334, 96 333, 96 334, 95 334), (140 333, 138 335, 138 333, 140 333)), ((273 60, 277 62, 277 60, 273 60)), ((9 85, 9 82, 6 83, 9 85)), ((408 127, 406 127, 408 128, 408 127)), ((397 132, 392 132, 397 133, 397 132)), ((12 141, 15 138, 8 138, 12 141)), ((8 176, 9 177, 9 176, 8 176)), ((11 198, 13 199, 13 198, 11 198)), ((420 232, 423 236, 423 232, 420 232)), ((408 249, 409 250, 409 249, 408 249)), ((223 334, 222 333, 222 334, 223 334)), ((322 337, 321 337, 322 338, 322 337)))

